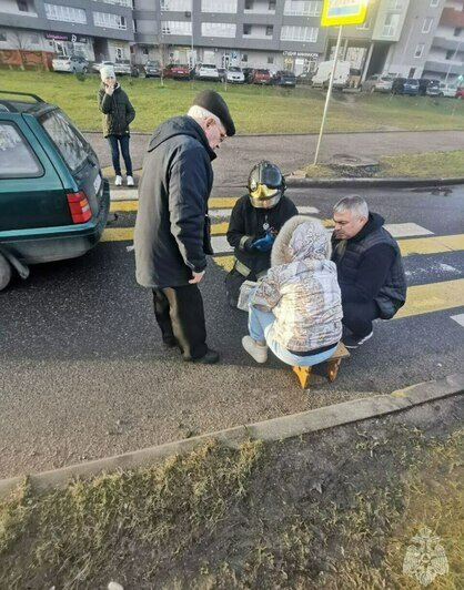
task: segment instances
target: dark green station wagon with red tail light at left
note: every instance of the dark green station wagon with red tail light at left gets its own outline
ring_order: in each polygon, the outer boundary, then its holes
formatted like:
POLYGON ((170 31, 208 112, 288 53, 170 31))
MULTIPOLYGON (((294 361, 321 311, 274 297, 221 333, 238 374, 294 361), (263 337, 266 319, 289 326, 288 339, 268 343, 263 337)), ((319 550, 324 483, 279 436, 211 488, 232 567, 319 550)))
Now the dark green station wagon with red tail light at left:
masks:
POLYGON ((109 207, 109 183, 72 121, 36 94, 0 90, 0 291, 29 264, 85 254, 109 207))

